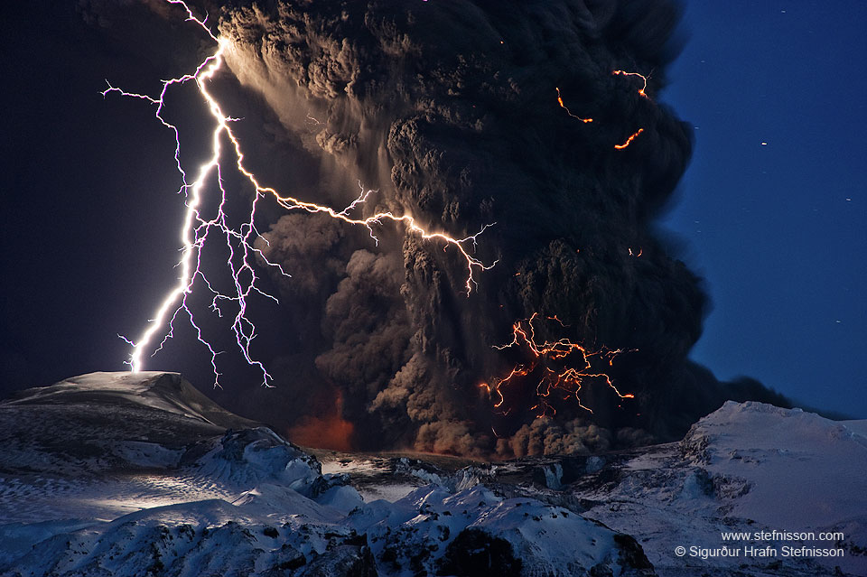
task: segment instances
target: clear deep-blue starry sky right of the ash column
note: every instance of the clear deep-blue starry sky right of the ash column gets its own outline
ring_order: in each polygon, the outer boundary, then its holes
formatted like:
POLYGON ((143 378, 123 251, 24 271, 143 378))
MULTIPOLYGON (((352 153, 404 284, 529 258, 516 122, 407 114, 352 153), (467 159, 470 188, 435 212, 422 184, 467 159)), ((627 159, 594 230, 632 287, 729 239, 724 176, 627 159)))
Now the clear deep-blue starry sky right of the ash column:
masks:
POLYGON ((664 222, 714 303, 692 357, 867 417, 867 3, 693 1, 684 30, 661 99, 695 152, 664 222))

